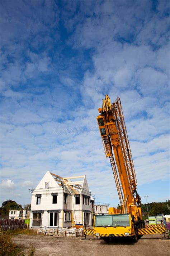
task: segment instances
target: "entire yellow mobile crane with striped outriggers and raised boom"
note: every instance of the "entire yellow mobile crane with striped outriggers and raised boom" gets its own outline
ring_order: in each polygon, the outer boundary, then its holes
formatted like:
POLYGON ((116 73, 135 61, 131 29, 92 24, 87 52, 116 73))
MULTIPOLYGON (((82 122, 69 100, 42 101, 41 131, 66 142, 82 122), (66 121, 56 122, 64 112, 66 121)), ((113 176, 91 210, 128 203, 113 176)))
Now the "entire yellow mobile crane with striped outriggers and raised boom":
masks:
POLYGON ((108 215, 96 215, 93 230, 84 230, 84 234, 93 234, 106 242, 115 237, 131 237, 137 242, 144 234, 164 233, 165 236, 163 222, 161 225, 145 225, 142 220, 141 198, 137 193, 136 174, 120 98, 111 104, 106 95, 102 108, 98 110, 99 131, 106 157, 109 157, 112 166, 121 210, 112 207, 108 215))

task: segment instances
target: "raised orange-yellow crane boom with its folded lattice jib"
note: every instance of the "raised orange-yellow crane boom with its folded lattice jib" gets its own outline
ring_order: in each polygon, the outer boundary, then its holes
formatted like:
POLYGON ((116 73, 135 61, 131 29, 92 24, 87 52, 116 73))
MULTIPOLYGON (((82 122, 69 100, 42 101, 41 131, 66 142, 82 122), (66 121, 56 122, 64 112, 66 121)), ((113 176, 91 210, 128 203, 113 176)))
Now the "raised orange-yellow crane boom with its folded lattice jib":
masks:
POLYGON ((136 219, 141 216, 141 198, 137 193, 137 180, 124 121, 121 100, 113 104, 106 95, 97 117, 106 157, 110 158, 113 175, 123 212, 132 213, 136 219), (114 157, 115 161, 114 161, 114 157), (117 167, 116 167, 116 165, 117 167))

